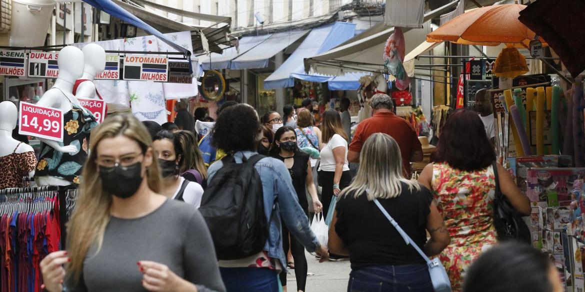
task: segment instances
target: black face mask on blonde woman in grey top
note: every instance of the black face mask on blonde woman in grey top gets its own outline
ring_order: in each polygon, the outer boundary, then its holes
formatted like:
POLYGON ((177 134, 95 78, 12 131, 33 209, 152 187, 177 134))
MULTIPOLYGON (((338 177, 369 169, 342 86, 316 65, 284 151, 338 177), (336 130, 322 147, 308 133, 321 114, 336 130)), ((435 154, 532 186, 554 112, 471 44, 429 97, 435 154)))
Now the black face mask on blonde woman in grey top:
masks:
POLYGON ((112 196, 122 199, 132 197, 142 183, 142 163, 130 166, 99 166, 99 178, 102 188, 112 196))

